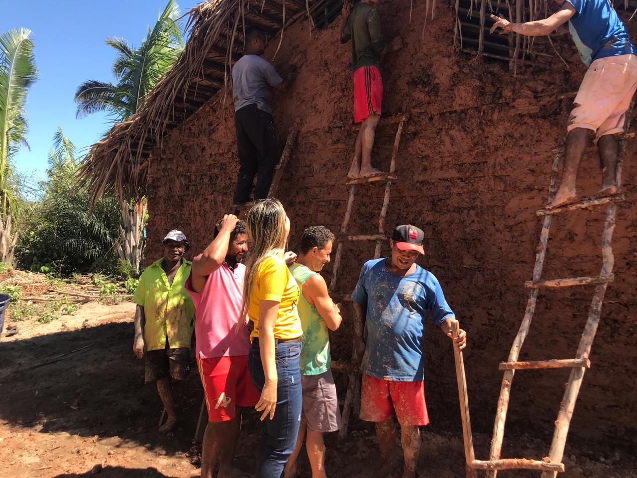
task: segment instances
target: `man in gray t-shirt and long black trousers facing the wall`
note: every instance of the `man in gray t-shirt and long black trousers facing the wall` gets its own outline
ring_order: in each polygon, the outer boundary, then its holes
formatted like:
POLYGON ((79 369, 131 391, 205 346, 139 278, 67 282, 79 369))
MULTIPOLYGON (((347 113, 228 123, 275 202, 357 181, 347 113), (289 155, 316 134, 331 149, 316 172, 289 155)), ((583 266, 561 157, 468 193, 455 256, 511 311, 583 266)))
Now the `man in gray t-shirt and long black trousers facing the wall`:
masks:
POLYGON ((265 32, 250 27, 245 33, 245 54, 233 66, 234 126, 240 162, 234 204, 238 210, 251 201, 255 175, 254 200, 268 197, 278 157, 269 89, 285 91, 287 82, 261 58, 265 50, 265 32))

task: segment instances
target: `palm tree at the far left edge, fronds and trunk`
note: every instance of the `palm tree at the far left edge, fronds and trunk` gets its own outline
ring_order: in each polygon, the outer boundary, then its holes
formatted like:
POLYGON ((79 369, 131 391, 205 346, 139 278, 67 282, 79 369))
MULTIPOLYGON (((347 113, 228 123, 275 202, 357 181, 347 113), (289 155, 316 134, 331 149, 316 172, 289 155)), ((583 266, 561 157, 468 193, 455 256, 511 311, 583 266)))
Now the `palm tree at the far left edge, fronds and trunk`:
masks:
POLYGON ((26 141, 24 106, 31 85, 38 79, 31 31, 11 29, 0 35, 0 260, 13 262, 17 232, 11 231, 18 196, 13 158, 26 141))

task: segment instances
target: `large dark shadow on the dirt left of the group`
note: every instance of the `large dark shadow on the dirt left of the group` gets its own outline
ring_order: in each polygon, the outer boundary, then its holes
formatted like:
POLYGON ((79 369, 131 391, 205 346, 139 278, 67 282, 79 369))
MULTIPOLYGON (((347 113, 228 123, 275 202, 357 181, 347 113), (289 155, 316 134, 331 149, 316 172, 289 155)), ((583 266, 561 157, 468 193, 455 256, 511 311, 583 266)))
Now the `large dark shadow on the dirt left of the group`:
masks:
POLYGON ((155 386, 144 383, 143 361, 132 354, 131 322, 63 331, 0 347, 0 420, 45 433, 67 431, 97 435, 98 440, 117 437, 166 454, 189 449, 203 398, 196 366, 175 387, 179 428, 172 435, 160 435, 157 424, 163 407, 155 386), (41 365, 87 345, 68 358, 41 365))

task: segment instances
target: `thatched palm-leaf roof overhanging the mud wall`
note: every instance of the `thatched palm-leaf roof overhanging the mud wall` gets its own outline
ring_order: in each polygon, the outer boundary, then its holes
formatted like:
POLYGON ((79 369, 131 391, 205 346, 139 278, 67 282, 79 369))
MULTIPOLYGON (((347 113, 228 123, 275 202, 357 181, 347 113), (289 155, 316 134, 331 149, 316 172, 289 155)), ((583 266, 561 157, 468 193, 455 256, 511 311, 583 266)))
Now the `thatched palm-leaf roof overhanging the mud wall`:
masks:
POLYGON ((80 170, 94 198, 144 194, 150 154, 164 134, 182 124, 229 80, 241 57, 245 27, 275 36, 325 0, 209 0, 192 8, 182 55, 148 94, 143 108, 95 143, 80 170), (311 5, 311 6, 310 6, 311 5))

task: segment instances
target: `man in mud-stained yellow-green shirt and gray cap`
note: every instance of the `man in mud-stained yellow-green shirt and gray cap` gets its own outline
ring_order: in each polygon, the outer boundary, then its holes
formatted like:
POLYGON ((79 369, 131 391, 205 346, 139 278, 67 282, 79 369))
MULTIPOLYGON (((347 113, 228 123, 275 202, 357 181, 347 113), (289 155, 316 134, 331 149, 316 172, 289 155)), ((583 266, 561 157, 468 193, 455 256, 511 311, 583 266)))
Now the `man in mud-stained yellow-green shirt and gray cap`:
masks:
POLYGON ((183 380, 190 371, 195 308, 184 288, 191 264, 183 259, 189 249, 185 234, 173 229, 162 245, 164 256, 144 270, 132 296, 137 304, 132 351, 146 357, 146 381, 157 382, 167 416, 159 431, 168 433, 177 424, 170 379, 183 380))

